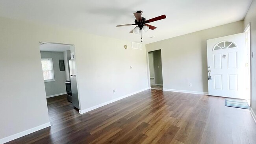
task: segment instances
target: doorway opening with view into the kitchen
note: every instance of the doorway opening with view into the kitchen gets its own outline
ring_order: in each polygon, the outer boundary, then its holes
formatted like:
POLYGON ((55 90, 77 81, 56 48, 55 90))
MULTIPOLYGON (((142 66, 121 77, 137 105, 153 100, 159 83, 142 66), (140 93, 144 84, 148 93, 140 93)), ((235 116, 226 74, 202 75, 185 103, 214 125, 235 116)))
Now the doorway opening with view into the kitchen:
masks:
POLYGON ((39 48, 49 118, 60 109, 78 112, 74 45, 39 42, 39 48))

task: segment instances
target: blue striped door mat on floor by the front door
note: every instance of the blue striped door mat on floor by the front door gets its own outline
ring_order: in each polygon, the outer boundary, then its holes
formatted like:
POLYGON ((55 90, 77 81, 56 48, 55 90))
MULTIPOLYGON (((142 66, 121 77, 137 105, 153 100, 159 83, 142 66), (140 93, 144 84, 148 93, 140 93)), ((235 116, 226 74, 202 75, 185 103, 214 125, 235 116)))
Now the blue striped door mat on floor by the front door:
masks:
POLYGON ((237 108, 241 108, 241 109, 250 109, 246 100, 225 98, 225 105, 227 107, 237 107, 237 108))

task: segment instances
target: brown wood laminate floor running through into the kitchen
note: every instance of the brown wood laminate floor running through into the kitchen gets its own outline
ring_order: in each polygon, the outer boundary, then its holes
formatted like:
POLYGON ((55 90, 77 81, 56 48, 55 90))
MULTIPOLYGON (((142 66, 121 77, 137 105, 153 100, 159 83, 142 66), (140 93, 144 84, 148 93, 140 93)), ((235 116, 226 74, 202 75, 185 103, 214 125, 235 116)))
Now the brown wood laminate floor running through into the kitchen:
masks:
POLYGON ((82 115, 65 95, 47 103, 52 126, 9 143, 256 144, 249 110, 220 97, 145 90, 82 115))

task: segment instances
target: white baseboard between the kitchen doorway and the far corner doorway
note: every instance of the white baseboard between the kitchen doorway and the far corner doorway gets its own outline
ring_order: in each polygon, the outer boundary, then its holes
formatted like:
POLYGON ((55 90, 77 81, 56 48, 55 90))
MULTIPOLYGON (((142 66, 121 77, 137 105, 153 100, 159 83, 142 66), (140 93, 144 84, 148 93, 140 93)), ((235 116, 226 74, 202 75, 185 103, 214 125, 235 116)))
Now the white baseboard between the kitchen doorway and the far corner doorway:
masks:
POLYGON ((88 111, 92 111, 92 110, 94 110, 94 109, 97 109, 97 108, 102 107, 102 106, 104 106, 104 105, 107 105, 107 104, 109 104, 109 103, 116 102, 116 101, 118 101, 118 100, 121 100, 121 99, 126 98, 126 97, 128 97, 128 96, 132 96, 132 95, 134 95, 134 94, 137 94, 137 93, 142 92, 142 91, 147 90, 147 89, 150 89, 150 88, 141 89, 141 90, 132 92, 132 93, 130 93, 130 94, 126 94, 126 95, 124 95, 124 96, 121 96, 121 97, 119 97, 119 98, 115 98, 115 99, 110 100, 110 101, 108 101, 108 102, 104 102, 104 103, 101 103, 101 104, 99 104, 99 105, 95 105, 95 106, 93 106, 93 107, 89 107, 89 108, 87 108, 87 109, 79 110, 79 113, 80 113, 80 114, 87 113, 88 111))

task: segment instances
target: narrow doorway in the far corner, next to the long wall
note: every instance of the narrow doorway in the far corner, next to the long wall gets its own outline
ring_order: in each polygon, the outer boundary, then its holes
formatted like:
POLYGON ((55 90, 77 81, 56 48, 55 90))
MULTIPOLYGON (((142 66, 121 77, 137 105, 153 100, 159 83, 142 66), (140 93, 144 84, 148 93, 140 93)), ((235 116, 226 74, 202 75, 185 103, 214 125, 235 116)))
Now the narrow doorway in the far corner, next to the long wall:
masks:
POLYGON ((161 50, 148 52, 150 87, 163 90, 161 50))

